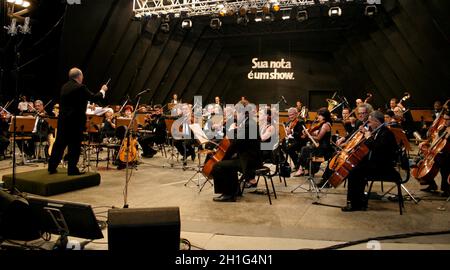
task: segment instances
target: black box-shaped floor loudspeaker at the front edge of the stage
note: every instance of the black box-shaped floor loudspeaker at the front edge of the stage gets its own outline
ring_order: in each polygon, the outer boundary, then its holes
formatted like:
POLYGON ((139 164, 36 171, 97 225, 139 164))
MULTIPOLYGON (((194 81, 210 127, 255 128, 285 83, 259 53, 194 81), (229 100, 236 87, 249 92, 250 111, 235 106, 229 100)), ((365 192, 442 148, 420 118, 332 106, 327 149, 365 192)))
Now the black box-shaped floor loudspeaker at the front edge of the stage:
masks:
POLYGON ((108 249, 179 250, 179 208, 110 209, 108 211, 108 249))

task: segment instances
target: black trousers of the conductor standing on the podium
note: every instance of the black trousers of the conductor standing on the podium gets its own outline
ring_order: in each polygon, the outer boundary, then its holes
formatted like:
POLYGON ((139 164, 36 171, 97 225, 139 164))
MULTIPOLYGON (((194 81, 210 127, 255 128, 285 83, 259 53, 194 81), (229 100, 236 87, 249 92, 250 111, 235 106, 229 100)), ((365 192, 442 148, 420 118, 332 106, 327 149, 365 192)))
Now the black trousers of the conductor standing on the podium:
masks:
MULTIPOLYGON (((59 125, 58 125, 59 126, 59 125)), ((81 141, 83 139, 83 129, 79 126, 61 126, 58 128, 56 140, 53 144, 52 153, 48 161, 48 170, 55 170, 61 161, 64 149, 67 146, 67 166, 68 171, 77 169, 80 159, 81 141)))

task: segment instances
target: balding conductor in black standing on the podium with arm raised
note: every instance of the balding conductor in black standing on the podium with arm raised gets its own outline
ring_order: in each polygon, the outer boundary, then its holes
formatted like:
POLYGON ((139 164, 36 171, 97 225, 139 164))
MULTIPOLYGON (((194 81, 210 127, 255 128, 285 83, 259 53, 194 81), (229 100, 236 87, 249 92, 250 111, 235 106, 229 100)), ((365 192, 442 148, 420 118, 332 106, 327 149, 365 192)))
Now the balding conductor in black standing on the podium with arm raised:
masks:
POLYGON ((68 147, 67 174, 81 174, 77 168, 77 163, 80 159, 81 140, 86 126, 87 103, 88 101, 96 102, 103 99, 108 90, 108 87, 103 85, 100 92, 94 94, 83 84, 83 78, 83 72, 74 67, 69 71, 69 81, 61 88, 58 133, 48 161, 48 172, 50 174, 57 172, 56 168, 61 161, 66 146, 68 147))

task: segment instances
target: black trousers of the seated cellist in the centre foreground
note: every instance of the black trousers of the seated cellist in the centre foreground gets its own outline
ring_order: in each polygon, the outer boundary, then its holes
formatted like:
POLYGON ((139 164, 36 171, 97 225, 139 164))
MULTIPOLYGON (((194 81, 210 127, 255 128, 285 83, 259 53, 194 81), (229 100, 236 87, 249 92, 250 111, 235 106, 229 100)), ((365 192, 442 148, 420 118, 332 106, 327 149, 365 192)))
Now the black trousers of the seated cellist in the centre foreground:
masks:
POLYGON ((214 165, 214 193, 234 196, 239 191, 238 171, 241 171, 239 159, 222 160, 214 165))

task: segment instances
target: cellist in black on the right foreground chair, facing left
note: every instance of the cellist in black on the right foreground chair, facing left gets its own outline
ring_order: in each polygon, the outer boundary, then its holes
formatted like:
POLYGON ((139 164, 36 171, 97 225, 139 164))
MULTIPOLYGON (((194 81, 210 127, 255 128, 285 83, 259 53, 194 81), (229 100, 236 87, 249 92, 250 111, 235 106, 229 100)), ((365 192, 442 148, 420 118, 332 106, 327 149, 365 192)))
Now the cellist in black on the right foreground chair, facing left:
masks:
POLYGON ((365 131, 364 143, 370 150, 348 175, 347 205, 342 211, 367 210, 367 197, 364 188, 368 176, 380 176, 389 174, 394 169, 397 158, 398 145, 394 134, 386 127, 384 115, 380 111, 373 111, 368 117, 369 129, 361 127, 365 131), (375 131, 371 133, 371 131, 375 131))

